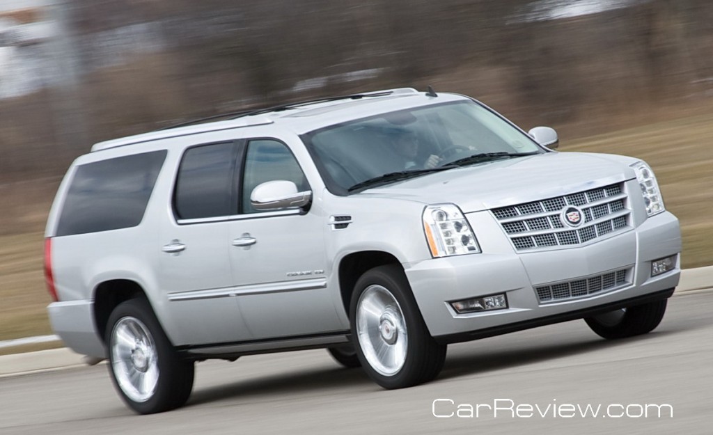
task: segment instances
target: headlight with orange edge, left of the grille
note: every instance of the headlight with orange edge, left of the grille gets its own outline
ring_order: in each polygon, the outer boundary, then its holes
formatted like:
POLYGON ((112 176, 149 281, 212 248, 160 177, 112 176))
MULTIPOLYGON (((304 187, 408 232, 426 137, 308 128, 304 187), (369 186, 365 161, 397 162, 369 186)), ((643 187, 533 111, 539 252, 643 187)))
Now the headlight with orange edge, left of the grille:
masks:
POLYGON ((426 207, 424 232, 434 257, 481 252, 471 225, 468 225, 457 205, 436 204, 426 207))

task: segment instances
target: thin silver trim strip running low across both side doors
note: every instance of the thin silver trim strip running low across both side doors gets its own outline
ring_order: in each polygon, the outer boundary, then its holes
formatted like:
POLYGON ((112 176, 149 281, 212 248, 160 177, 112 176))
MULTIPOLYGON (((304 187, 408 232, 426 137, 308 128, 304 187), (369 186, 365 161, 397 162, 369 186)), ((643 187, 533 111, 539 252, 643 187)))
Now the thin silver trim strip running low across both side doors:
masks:
POLYGON ((327 288, 327 278, 312 280, 297 280, 285 282, 268 282, 267 284, 241 285, 215 290, 191 290, 190 292, 175 292, 168 294, 171 302, 182 300, 215 299, 216 297, 265 295, 268 293, 299 292, 302 290, 317 290, 327 288))

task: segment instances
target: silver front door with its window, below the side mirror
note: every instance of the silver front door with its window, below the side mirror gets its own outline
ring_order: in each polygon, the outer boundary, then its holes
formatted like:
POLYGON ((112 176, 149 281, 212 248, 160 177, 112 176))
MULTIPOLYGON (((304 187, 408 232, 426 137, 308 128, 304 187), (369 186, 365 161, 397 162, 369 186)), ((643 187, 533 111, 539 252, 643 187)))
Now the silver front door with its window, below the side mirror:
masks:
POLYGON ((230 222, 229 230, 240 312, 255 339, 341 331, 326 287, 327 222, 314 213, 314 207, 307 213, 295 208, 252 208, 250 193, 270 180, 292 181, 299 191, 309 190, 287 145, 277 140, 249 141, 240 189, 241 215, 230 222))

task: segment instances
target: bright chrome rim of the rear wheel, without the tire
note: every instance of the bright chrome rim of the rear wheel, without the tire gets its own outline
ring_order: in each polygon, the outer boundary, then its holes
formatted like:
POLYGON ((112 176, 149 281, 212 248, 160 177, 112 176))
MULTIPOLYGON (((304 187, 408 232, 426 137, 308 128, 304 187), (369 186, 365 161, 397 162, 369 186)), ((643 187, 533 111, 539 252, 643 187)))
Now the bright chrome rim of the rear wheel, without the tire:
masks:
POLYGON ((116 382, 129 399, 150 399, 158 384, 158 355, 148 328, 135 317, 123 317, 111 332, 111 364, 116 382))

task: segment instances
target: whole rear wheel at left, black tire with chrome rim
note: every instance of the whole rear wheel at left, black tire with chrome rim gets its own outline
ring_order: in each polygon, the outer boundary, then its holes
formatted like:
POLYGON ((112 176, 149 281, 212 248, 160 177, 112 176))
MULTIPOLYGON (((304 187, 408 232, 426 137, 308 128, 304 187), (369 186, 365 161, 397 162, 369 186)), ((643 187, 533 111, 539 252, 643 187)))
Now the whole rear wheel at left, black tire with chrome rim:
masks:
POLYGON ((193 389, 194 363, 176 354, 148 302, 122 302, 108 325, 108 367, 123 401, 139 414, 183 406, 193 389))

